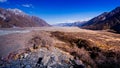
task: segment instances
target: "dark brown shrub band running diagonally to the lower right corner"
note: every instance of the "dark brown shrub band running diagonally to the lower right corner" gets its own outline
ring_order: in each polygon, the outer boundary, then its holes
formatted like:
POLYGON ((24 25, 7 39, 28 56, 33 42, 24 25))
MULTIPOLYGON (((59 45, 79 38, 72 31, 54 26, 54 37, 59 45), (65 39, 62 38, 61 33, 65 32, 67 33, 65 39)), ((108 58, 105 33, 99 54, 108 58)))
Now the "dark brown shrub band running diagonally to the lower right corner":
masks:
MULTIPOLYGON (((114 68, 120 67, 120 54, 114 50, 116 46, 101 43, 101 40, 90 41, 74 35, 74 33, 52 32, 52 37, 61 40, 63 44, 56 44, 56 47, 79 57, 80 60, 91 68, 114 68), (113 49, 111 49, 113 48, 113 49), (112 65, 114 64, 114 65, 112 65)), ((94 39, 93 39, 94 40, 94 39)))

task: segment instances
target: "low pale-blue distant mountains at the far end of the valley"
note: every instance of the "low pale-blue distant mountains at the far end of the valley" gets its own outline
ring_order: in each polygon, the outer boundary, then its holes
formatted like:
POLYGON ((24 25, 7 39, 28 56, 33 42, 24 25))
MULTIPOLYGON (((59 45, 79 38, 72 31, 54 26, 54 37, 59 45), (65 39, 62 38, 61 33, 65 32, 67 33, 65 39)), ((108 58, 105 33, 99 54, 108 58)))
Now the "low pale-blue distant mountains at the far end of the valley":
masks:
POLYGON ((81 25, 83 23, 85 23, 86 21, 83 21, 83 22, 73 22, 73 23, 59 23, 59 24, 56 24, 54 26, 61 26, 61 27, 73 27, 73 26, 77 26, 77 27, 81 27, 81 25))

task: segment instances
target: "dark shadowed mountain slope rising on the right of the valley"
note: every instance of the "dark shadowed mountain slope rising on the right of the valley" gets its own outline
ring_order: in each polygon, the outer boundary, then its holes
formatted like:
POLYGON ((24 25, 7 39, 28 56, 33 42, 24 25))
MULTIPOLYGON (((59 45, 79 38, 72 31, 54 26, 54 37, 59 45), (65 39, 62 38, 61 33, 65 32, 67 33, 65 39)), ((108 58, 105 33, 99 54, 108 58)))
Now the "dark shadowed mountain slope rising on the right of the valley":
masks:
POLYGON ((113 30, 120 33, 120 7, 115 8, 111 12, 103 14, 89 20, 82 25, 82 28, 92 30, 113 30))

